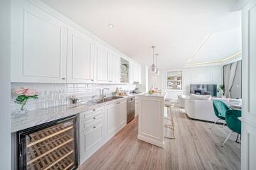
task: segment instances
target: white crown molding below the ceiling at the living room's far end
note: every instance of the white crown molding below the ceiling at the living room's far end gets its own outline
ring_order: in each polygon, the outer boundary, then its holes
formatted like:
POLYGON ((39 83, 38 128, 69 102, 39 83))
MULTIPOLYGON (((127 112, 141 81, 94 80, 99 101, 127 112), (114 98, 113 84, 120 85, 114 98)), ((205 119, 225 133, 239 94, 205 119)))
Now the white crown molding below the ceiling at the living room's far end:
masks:
POLYGON ((231 55, 229 57, 226 57, 222 60, 216 60, 212 62, 198 62, 198 63, 191 63, 191 64, 185 64, 184 68, 188 67, 202 67, 202 66, 214 66, 214 65, 225 65, 230 62, 236 62, 242 60, 242 51, 236 52, 234 55, 231 55))

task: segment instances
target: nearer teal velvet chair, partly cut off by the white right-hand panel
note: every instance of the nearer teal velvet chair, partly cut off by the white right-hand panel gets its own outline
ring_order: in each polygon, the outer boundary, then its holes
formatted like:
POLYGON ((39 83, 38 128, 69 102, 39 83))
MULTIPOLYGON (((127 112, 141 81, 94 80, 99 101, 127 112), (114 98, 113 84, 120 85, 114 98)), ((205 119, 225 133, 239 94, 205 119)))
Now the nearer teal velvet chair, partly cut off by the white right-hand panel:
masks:
MULTIPOLYGON (((225 139, 223 142, 222 147, 224 147, 225 142, 227 142, 228 138, 232 134, 232 132, 238 133, 238 136, 241 135, 241 121, 238 119, 241 117, 241 111, 238 110, 228 110, 226 115, 225 115, 225 120, 227 123, 228 128, 230 128, 231 132, 228 134, 228 137, 225 139)), ((235 140, 235 142, 238 142, 238 137, 235 140)))

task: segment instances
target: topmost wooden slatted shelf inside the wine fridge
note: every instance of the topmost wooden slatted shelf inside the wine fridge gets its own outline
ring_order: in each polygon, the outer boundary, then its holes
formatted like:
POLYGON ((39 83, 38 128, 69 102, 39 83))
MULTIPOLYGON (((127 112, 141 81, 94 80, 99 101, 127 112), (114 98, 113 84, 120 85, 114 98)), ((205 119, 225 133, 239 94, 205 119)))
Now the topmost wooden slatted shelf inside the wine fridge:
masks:
POLYGON ((38 144, 39 142, 43 142, 44 140, 49 139, 50 137, 54 137, 55 135, 59 135, 60 133, 66 132, 67 130, 73 129, 73 125, 69 126, 53 126, 52 128, 46 128, 45 130, 41 130, 29 135, 30 142, 28 142, 27 147, 31 147, 33 145, 38 144))

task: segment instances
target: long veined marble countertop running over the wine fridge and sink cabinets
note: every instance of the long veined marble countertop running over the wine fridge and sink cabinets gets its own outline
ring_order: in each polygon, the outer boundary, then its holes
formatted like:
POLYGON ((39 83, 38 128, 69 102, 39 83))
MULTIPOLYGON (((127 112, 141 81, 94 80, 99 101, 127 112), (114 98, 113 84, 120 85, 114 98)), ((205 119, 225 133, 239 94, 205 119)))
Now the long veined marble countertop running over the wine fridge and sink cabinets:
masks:
POLYGON ((81 113, 93 108, 106 106, 111 103, 122 101, 131 96, 137 96, 137 95, 139 94, 129 94, 127 96, 124 96, 123 98, 118 98, 118 99, 107 101, 105 103, 100 103, 100 104, 88 101, 88 102, 80 103, 78 106, 68 105, 68 106, 59 106, 55 108, 29 111, 26 115, 22 115, 17 118, 11 118, 11 132, 17 132, 19 130, 31 128, 36 125, 48 123, 53 120, 66 118, 70 115, 76 115, 78 113, 81 113))

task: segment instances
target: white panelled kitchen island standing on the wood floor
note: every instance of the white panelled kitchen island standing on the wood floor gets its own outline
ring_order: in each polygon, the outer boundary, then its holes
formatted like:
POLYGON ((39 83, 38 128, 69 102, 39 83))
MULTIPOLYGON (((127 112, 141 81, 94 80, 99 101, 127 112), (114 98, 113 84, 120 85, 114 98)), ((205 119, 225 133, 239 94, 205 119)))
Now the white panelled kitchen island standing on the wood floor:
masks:
POLYGON ((138 139, 164 147, 164 99, 166 93, 139 96, 138 139))

